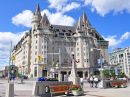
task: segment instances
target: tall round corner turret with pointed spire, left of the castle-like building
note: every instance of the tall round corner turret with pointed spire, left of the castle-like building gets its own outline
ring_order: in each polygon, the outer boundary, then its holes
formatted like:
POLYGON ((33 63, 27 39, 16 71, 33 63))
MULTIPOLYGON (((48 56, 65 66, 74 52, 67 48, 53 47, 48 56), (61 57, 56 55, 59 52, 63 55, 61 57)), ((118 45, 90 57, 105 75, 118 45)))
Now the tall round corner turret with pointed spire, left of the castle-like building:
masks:
POLYGON ((41 12, 40 12, 40 7, 39 4, 37 4, 35 13, 33 12, 33 17, 32 17, 32 29, 34 29, 36 26, 38 26, 40 24, 40 20, 41 20, 42 16, 41 16, 41 12))

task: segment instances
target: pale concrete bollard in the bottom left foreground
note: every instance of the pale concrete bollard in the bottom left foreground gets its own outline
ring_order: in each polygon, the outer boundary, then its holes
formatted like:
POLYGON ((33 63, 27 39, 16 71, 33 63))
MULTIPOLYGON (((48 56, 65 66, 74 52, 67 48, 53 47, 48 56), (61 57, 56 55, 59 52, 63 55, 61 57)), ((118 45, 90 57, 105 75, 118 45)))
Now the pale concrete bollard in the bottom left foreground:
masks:
POLYGON ((5 97, 14 97, 14 83, 7 84, 5 97))

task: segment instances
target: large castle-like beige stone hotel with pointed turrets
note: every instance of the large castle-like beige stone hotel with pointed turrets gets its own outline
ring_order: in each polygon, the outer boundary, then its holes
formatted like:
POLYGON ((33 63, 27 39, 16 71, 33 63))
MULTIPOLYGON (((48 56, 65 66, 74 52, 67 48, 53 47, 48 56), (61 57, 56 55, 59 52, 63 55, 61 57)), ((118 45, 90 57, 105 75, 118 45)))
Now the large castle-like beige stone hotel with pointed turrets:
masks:
POLYGON ((52 63, 54 76, 61 70, 62 76, 70 74, 71 53, 75 53, 76 70, 80 77, 93 74, 98 67, 97 60, 105 58, 104 64, 109 64, 108 41, 93 28, 83 12, 82 17, 74 26, 53 25, 46 14, 41 16, 39 4, 32 16, 32 27, 13 48, 16 56, 14 65, 20 66, 18 72, 30 77, 48 77, 51 74, 52 63), (100 45, 99 45, 100 44, 100 45), (101 46, 101 50, 98 50, 101 46), (91 52, 91 49, 93 52, 91 52), (61 69, 59 68, 59 53, 61 50, 61 69), (101 55, 100 55, 101 51, 101 55), (38 55, 41 55, 39 61, 38 55), (53 61, 52 62, 52 58, 53 61), (43 66, 43 68, 41 68, 43 66), (60 70, 59 70, 60 69, 60 70))

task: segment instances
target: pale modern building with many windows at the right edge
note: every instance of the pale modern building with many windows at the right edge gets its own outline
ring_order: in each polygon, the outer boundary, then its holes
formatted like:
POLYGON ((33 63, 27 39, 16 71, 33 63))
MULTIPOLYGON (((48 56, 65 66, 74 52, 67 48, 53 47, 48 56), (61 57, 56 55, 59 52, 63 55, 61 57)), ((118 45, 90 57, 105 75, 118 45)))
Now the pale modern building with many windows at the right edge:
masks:
POLYGON ((130 47, 117 48, 109 53, 109 56, 110 64, 120 64, 118 65, 120 72, 130 76, 130 47))

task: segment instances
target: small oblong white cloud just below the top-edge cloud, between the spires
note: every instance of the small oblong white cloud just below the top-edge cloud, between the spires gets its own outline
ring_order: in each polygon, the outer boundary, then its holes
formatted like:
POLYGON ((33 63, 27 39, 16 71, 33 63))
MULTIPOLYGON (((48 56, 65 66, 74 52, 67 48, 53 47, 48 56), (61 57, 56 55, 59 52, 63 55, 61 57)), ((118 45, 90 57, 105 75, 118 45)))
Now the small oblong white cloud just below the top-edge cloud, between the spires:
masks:
POLYGON ((67 4, 65 7, 63 7, 62 13, 68 12, 72 9, 76 9, 76 8, 79 8, 79 7, 80 7, 80 4, 78 4, 77 2, 72 2, 71 4, 67 4))

